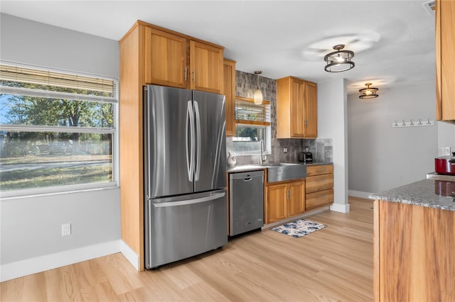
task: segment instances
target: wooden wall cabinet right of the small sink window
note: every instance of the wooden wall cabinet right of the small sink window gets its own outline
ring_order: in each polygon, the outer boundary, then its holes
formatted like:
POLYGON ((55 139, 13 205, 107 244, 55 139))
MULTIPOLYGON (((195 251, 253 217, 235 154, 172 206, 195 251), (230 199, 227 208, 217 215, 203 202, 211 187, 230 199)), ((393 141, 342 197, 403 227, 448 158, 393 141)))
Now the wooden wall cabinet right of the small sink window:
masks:
POLYGON ((277 79, 277 138, 316 138, 317 103, 316 83, 277 79))

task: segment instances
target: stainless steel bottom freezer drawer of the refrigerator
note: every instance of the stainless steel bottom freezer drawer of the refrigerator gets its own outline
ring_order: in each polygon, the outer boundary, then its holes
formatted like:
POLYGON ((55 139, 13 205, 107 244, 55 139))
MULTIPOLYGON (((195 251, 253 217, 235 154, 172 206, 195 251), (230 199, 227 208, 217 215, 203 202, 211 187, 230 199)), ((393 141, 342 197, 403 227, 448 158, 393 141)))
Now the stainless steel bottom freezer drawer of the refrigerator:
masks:
POLYGON ((149 199, 146 269, 215 250, 228 243, 226 190, 149 199))

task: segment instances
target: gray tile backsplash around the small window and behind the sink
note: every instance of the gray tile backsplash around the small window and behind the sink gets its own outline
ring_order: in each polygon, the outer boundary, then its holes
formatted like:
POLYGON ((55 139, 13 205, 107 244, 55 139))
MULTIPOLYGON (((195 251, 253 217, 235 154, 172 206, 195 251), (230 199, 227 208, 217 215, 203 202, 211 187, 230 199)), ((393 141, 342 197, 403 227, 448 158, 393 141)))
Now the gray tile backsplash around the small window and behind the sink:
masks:
MULTIPOLYGON (((316 139, 282 139, 277 138, 277 81, 267 77, 258 77, 255 74, 235 71, 236 96, 252 98, 253 91, 257 89, 258 79, 264 100, 270 101, 271 135, 272 135, 272 154, 267 155, 267 162, 297 162, 299 153, 306 147, 313 153, 314 162, 333 161, 333 140, 331 138, 316 139), (284 153, 284 148, 287 152, 284 153)), ((232 137, 226 138, 226 149, 232 152, 232 137)), ((233 152, 235 154, 235 152, 233 152)), ((258 164, 259 154, 257 155, 235 155, 237 165, 258 164)))

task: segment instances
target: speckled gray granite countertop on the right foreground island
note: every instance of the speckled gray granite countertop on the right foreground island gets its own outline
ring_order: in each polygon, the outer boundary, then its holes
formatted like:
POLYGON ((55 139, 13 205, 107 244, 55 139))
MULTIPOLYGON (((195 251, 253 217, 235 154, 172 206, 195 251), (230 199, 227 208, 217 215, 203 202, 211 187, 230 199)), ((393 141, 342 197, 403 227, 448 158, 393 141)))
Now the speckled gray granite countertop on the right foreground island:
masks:
POLYGON ((372 194, 370 198, 455 211, 455 182, 424 179, 372 194))

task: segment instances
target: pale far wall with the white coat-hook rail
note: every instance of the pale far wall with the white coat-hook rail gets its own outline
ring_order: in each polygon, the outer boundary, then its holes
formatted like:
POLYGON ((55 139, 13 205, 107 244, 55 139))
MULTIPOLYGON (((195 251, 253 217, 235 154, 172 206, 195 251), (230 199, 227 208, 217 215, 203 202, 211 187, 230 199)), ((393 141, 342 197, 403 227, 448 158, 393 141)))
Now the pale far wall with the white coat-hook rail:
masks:
POLYGON ((434 171, 437 125, 392 128, 395 120, 434 121, 434 85, 383 87, 372 100, 348 96, 350 193, 368 196, 424 179, 434 171))

